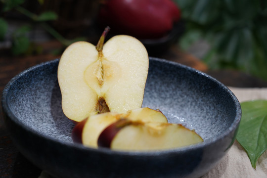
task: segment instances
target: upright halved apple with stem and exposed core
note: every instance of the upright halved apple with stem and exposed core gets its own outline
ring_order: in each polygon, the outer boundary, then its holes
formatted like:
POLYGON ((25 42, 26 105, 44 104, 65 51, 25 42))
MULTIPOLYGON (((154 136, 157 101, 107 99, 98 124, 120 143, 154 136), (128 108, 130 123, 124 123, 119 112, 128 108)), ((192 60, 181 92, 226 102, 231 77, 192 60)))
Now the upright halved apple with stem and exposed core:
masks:
POLYGON ((58 65, 62 109, 80 122, 89 115, 140 108, 148 73, 148 54, 134 37, 118 35, 96 46, 76 42, 66 48, 58 65))

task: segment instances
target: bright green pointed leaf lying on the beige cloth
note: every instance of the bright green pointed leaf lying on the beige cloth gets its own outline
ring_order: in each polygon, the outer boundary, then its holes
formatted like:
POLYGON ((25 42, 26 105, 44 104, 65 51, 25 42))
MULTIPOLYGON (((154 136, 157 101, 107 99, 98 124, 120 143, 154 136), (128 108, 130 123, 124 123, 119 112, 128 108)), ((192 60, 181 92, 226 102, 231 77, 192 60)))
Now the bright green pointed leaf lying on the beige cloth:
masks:
POLYGON ((256 168, 259 157, 267 150, 267 100, 241 103, 242 119, 236 136, 256 168))

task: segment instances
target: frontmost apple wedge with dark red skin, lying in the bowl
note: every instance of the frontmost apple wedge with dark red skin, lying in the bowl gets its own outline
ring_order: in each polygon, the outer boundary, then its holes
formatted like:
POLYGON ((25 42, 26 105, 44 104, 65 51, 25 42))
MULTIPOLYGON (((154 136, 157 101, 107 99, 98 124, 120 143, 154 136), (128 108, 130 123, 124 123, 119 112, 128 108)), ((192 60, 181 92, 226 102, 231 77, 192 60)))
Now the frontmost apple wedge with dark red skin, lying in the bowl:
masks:
POLYGON ((121 119, 103 130, 97 144, 114 150, 150 151, 177 148, 202 141, 198 134, 180 124, 121 119))

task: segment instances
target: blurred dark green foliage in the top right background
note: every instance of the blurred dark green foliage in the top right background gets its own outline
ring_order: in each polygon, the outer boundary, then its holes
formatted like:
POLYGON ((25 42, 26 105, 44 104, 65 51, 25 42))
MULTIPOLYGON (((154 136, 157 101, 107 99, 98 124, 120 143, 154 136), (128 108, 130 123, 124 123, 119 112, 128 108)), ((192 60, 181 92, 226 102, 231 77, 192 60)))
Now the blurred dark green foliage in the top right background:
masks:
POLYGON ((267 80, 267 0, 175 0, 186 22, 182 48, 204 39, 211 69, 233 68, 267 80))

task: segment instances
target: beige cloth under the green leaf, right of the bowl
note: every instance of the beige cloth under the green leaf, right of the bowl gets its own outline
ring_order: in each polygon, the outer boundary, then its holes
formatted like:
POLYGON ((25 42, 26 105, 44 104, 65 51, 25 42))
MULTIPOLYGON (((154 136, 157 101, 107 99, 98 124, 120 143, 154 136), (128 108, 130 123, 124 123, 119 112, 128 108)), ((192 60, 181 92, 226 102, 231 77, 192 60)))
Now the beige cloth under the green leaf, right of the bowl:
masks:
MULTIPOLYGON (((256 99, 267 100, 267 88, 233 88, 239 102, 256 99)), ((256 170, 251 166, 247 153, 235 141, 222 161, 202 178, 267 178, 267 151, 259 158, 256 170)))

